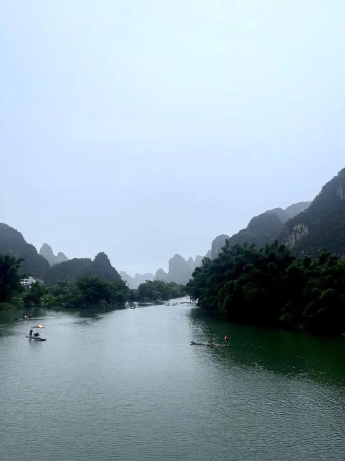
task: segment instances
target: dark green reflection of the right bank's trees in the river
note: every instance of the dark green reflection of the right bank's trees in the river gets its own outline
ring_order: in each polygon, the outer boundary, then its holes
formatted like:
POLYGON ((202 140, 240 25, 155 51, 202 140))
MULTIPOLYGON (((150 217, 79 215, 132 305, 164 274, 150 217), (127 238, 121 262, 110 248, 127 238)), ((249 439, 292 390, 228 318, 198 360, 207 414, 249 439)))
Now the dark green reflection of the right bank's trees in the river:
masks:
POLYGON ((345 338, 231 324, 200 308, 190 309, 188 315, 192 340, 211 337, 224 343, 225 334, 229 336, 231 348, 212 349, 224 367, 236 364, 320 384, 345 385, 345 338))

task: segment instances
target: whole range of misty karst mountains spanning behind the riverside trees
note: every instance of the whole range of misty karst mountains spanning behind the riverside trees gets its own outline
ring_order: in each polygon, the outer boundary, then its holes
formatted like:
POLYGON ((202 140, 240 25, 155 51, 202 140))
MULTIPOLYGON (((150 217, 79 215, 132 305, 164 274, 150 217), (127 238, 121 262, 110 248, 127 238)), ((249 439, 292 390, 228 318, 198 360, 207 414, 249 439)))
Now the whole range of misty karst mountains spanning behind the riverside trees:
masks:
MULTIPOLYGON (((231 245, 247 242, 258 247, 277 239, 291 248, 296 255, 315 256, 319 248, 344 255, 345 168, 323 186, 312 202, 299 202, 285 209, 267 210, 254 216, 248 226, 236 234, 218 235, 212 241, 211 249, 205 257, 216 258, 227 238, 231 245)), ((68 260, 62 252, 54 255, 52 248, 44 243, 38 254, 36 248, 27 243, 19 231, 7 224, 0 224, 0 253, 23 258, 22 273, 43 278, 48 285, 69 282, 87 273, 109 281, 121 277, 127 281, 130 288, 137 288, 145 280, 165 280, 185 284, 203 260, 202 256, 197 255, 194 259, 190 257, 186 261, 179 254, 175 254, 169 260, 168 273, 158 269, 155 274, 137 273, 131 277, 123 271, 118 273, 103 252, 99 253, 93 261, 89 258, 68 260)))

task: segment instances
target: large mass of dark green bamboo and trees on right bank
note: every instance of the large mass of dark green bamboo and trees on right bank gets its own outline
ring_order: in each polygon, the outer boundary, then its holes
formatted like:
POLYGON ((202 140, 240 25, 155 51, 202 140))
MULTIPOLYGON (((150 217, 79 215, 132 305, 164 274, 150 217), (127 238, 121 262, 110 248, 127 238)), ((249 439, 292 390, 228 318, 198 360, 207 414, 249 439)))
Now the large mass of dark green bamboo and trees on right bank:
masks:
POLYGON ((325 251, 312 261, 277 241, 256 249, 227 240, 218 258, 195 269, 187 289, 200 306, 233 322, 345 329, 345 261, 325 251))

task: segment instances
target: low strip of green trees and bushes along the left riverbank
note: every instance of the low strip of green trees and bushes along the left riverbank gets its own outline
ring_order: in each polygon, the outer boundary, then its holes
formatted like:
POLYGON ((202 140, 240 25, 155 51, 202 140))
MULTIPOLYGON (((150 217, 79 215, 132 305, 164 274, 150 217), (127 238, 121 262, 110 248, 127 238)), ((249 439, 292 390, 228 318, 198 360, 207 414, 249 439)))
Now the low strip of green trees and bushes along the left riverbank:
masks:
POLYGON ((30 307, 63 308, 121 308, 126 301, 149 302, 179 298, 186 294, 185 285, 163 280, 146 280, 131 290, 123 280, 107 281, 84 274, 71 282, 59 282, 53 287, 35 281, 30 288, 20 284, 21 262, 0 255, 0 309, 29 309, 30 307))

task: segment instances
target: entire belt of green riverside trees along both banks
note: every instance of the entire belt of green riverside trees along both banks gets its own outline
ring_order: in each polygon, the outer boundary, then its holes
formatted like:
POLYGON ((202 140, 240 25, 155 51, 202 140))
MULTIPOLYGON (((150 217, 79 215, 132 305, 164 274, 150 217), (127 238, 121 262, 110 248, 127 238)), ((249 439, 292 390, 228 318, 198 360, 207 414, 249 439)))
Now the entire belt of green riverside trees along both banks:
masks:
POLYGON ((0 310, 30 307, 122 308, 189 295, 198 306, 231 323, 303 328, 318 334, 345 331, 345 261, 320 250, 315 259, 298 258, 275 241, 264 248, 230 246, 204 258, 187 285, 146 280, 131 290, 123 280, 84 274, 47 287, 20 284, 21 259, 0 255, 0 310))

